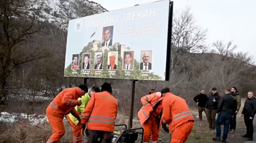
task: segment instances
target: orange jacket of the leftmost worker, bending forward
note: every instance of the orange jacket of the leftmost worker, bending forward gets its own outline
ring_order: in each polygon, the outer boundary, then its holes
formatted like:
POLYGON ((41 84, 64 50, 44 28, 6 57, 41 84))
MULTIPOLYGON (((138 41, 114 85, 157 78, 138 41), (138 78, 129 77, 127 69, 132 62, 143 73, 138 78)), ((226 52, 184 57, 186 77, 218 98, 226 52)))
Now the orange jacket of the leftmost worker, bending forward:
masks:
MULTIPOLYGON (((72 109, 75 109, 76 105, 79 105, 77 101, 79 97, 82 97, 82 93, 78 87, 64 89, 48 105, 46 111, 50 111, 49 113, 53 115, 64 117, 72 109)), ((79 116, 78 112, 76 114, 79 116)))

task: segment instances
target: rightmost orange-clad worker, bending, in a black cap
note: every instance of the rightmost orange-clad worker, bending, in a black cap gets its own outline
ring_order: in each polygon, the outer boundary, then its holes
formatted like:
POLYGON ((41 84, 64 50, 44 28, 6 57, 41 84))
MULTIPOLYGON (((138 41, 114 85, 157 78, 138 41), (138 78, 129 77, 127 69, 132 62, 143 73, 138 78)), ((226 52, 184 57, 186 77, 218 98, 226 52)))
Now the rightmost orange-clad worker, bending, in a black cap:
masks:
POLYGON ((173 132, 170 143, 185 143, 193 129, 194 118, 186 101, 170 92, 169 88, 161 90, 163 94, 162 123, 169 123, 169 133, 173 132))

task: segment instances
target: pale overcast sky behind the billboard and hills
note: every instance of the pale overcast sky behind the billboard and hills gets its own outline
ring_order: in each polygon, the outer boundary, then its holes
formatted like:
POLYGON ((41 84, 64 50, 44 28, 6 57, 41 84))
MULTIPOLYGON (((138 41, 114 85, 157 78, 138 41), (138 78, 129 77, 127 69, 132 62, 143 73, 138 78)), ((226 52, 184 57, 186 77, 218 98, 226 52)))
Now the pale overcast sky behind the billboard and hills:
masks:
MULTIPOLYGON (((93 0, 109 11, 157 0, 93 0)), ((174 14, 191 8, 197 25, 207 29, 207 43, 232 40, 236 51, 256 59, 256 0, 173 0, 174 14)))

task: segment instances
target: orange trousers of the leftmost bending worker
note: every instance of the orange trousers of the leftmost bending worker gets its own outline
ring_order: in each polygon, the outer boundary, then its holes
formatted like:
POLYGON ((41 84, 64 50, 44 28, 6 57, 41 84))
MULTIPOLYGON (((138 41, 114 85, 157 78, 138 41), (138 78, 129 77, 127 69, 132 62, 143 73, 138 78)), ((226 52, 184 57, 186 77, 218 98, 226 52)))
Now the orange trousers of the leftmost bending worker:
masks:
POLYGON ((53 134, 46 143, 58 143, 60 142, 61 137, 65 134, 63 117, 54 115, 53 112, 48 109, 46 109, 46 116, 53 130, 53 134))

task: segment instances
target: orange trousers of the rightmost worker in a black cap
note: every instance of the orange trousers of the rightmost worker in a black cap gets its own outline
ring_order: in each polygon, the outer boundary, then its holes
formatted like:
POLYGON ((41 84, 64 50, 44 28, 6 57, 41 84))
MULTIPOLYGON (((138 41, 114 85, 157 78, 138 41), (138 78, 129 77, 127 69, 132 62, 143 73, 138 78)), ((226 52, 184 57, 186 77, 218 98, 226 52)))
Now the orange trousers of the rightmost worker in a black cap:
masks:
POLYGON ((174 129, 170 143, 185 143, 189 134, 192 132, 193 125, 193 121, 188 121, 179 125, 176 129, 174 129))

